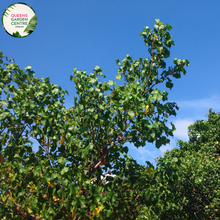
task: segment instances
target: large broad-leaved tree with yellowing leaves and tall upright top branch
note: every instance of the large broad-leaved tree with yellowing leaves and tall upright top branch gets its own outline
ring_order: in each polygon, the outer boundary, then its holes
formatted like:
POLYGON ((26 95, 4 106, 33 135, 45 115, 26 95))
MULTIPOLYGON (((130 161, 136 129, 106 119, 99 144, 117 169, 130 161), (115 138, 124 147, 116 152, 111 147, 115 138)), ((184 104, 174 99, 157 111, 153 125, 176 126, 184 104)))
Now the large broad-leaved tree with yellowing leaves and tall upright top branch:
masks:
MULTIPOLYGON (((169 34, 171 26, 155 21, 153 31, 145 27, 141 32, 150 59, 133 60, 127 55, 121 62, 116 60, 116 79, 123 78, 124 85, 99 82, 98 77, 105 76, 98 66, 89 75, 74 69, 70 80, 78 96, 70 109, 63 106, 68 92, 50 83, 48 77, 33 78, 30 66, 20 70, 13 59, 1 66, 0 95, 2 91, 7 95, 7 101, 0 101, 2 217, 138 216, 140 203, 144 203, 142 197, 150 185, 145 184, 142 192, 134 186, 142 178, 140 173, 149 172, 152 165, 137 164, 127 155, 124 144, 134 143, 138 148, 155 142, 159 148, 169 143, 167 137, 173 136, 175 126, 171 123, 170 129, 166 125, 167 117, 176 115, 178 106, 162 104, 168 93, 154 87, 165 81, 171 89, 170 76, 180 78, 181 72, 186 74, 184 66, 189 65, 188 60, 174 59, 174 67, 165 70, 164 58, 170 56, 169 49, 174 45, 169 34), (39 143, 36 153, 30 137, 39 143), (104 184, 103 172, 116 176, 107 177, 108 183, 104 184)), ((0 55, 2 64, 4 55, 0 55)), ((148 179, 142 181, 149 183, 148 179)))

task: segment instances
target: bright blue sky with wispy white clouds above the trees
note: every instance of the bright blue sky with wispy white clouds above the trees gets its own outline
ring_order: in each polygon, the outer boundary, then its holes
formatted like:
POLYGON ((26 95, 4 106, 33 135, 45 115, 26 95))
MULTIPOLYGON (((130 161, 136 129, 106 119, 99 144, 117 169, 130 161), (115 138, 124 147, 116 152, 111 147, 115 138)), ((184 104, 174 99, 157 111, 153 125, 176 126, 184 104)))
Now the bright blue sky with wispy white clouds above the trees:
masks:
MULTIPOLYGON (((154 144, 136 149, 132 144, 128 154, 144 165, 163 156, 163 152, 176 147, 177 139, 188 141, 188 126, 196 120, 207 120, 209 108, 220 112, 219 27, 220 1, 212 0, 93 0, 52 1, 23 0, 37 15, 35 31, 25 38, 13 38, 0 28, 0 50, 14 58, 21 69, 32 66, 35 77, 46 78, 69 92, 65 106, 73 106, 75 87, 70 82, 73 68, 93 72, 100 66, 106 75, 102 82, 114 80, 117 75, 115 60, 129 54, 133 59, 148 58, 140 32, 145 26, 153 28, 155 19, 170 24, 175 46, 167 65, 174 58, 188 59, 190 66, 181 79, 173 79, 168 90, 168 101, 179 106, 176 117, 168 123, 176 126, 170 144, 157 149, 154 144)), ((2 1, 0 13, 16 1, 2 1)), ((38 145, 34 144, 34 151, 38 145)))

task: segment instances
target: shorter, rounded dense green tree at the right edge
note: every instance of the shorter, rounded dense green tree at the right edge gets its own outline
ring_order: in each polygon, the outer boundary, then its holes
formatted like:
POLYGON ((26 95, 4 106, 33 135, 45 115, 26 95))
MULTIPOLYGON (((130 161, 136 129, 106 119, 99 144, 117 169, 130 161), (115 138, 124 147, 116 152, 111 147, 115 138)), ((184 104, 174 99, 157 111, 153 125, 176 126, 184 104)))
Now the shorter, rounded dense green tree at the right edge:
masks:
MULTIPOLYGON (((151 192, 157 199, 170 198, 159 219, 219 219, 220 217, 220 114, 209 110, 208 120, 188 127, 189 141, 178 140, 179 149, 158 158, 158 182, 151 192), (169 168, 167 175, 161 171, 169 168), (160 189, 161 188, 161 189, 160 189)), ((168 171, 168 170, 167 170, 168 171)))

